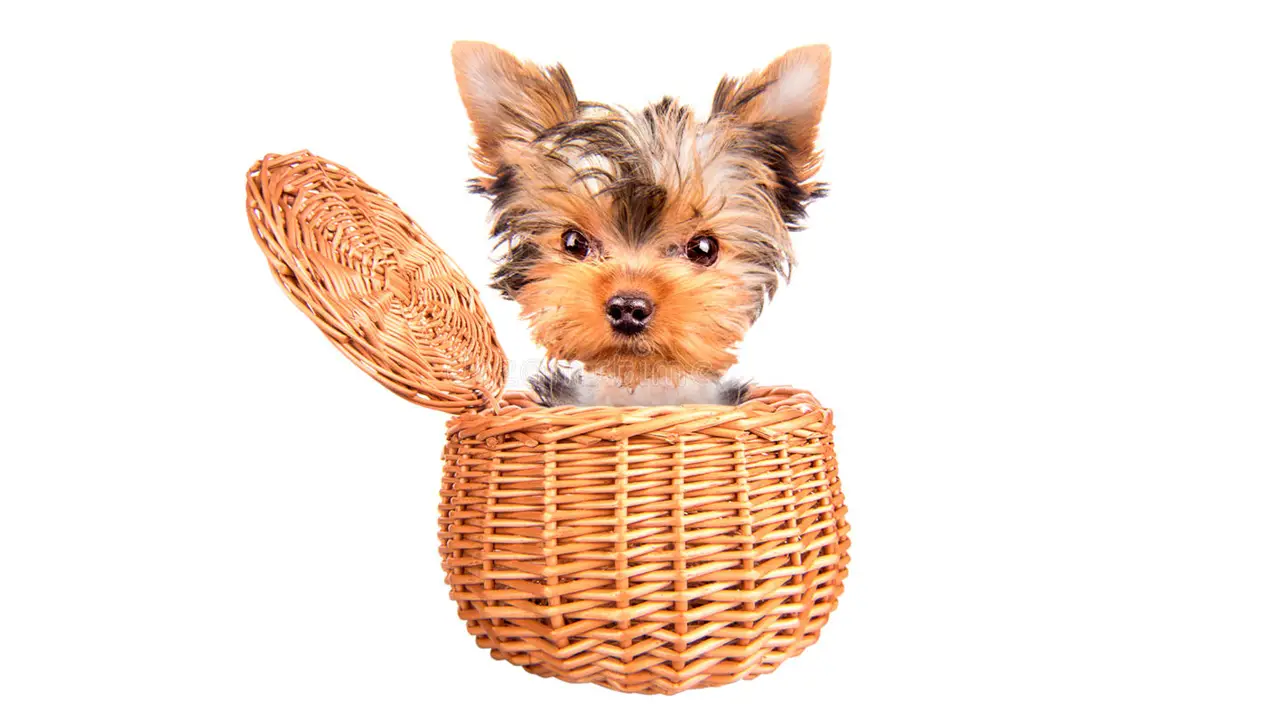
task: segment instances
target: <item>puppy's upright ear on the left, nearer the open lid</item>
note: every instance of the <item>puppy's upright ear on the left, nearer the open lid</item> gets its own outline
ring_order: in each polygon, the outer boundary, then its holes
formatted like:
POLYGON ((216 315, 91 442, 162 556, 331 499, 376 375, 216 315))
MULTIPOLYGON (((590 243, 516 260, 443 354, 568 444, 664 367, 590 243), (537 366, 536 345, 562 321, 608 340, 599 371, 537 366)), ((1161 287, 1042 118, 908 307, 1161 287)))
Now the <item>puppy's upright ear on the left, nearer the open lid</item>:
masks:
POLYGON ((476 165, 493 174, 502 146, 529 142, 577 111, 577 95, 564 68, 521 63, 488 42, 454 42, 453 72, 476 135, 476 165))

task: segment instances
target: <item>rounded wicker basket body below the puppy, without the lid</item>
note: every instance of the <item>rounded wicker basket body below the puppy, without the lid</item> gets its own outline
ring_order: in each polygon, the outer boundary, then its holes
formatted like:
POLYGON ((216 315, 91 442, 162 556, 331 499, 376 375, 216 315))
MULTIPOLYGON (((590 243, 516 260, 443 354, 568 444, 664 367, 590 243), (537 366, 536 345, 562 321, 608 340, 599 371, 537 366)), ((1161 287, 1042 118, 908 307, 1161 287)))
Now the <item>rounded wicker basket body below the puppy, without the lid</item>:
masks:
POLYGON ((539 407, 449 423, 440 553, 480 647, 530 673, 672 694, 818 639, 847 564, 831 411, 539 407))

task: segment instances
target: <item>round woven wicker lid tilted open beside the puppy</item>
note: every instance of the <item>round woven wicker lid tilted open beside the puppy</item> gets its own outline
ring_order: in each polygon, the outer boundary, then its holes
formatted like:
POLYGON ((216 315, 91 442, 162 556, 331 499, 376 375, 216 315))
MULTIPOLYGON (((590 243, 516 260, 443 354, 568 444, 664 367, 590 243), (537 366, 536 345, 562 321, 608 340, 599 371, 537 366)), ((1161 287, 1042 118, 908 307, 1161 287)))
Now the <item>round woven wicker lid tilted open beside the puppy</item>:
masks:
POLYGON ((280 287, 352 363, 445 413, 498 404, 507 357, 475 286, 396 202, 306 150, 255 163, 247 192, 280 287))

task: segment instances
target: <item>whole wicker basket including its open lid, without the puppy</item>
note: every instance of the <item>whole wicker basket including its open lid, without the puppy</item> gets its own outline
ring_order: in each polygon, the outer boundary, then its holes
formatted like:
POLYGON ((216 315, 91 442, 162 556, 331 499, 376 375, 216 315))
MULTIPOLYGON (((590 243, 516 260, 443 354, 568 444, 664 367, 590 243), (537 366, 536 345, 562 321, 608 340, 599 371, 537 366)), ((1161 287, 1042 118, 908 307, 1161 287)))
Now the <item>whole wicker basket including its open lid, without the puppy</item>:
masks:
POLYGON ((847 564, 831 411, 792 388, 739 406, 543 407, 502 393, 475 288, 384 195, 301 151, 248 172, 289 297, 361 369, 454 414, 440 553, 493 657, 672 694, 773 671, 818 639, 847 564))

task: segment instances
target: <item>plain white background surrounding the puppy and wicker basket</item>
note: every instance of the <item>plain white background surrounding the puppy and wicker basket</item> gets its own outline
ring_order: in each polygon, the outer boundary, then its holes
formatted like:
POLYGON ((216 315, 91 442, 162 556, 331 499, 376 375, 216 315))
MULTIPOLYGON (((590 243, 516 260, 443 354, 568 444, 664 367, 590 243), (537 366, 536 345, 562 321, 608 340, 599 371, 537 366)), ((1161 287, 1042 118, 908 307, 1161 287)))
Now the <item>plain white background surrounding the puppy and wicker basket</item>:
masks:
POLYGON ((0 29, 0 716, 1280 715, 1274 4, 45 5, 0 29), (243 173, 300 147, 484 278, 457 38, 703 111, 832 45, 831 197, 741 373, 836 409, 852 565, 777 674, 489 660, 443 418, 271 281, 243 173))

